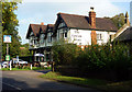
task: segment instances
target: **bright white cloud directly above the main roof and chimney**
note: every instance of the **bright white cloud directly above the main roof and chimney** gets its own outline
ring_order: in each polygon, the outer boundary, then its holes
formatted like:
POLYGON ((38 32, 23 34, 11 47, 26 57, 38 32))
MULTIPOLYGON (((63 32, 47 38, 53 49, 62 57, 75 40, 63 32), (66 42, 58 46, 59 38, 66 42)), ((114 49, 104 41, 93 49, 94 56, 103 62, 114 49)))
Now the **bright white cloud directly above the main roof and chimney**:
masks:
POLYGON ((90 7, 95 8, 96 14, 98 18, 102 16, 113 16, 116 14, 121 13, 120 8, 114 5, 109 0, 94 0, 90 2, 76 2, 76 3, 62 3, 63 7, 66 7, 64 10, 65 13, 74 13, 74 14, 82 14, 88 15, 88 12, 90 11, 90 7), (97 1, 97 2, 96 2, 97 1))

